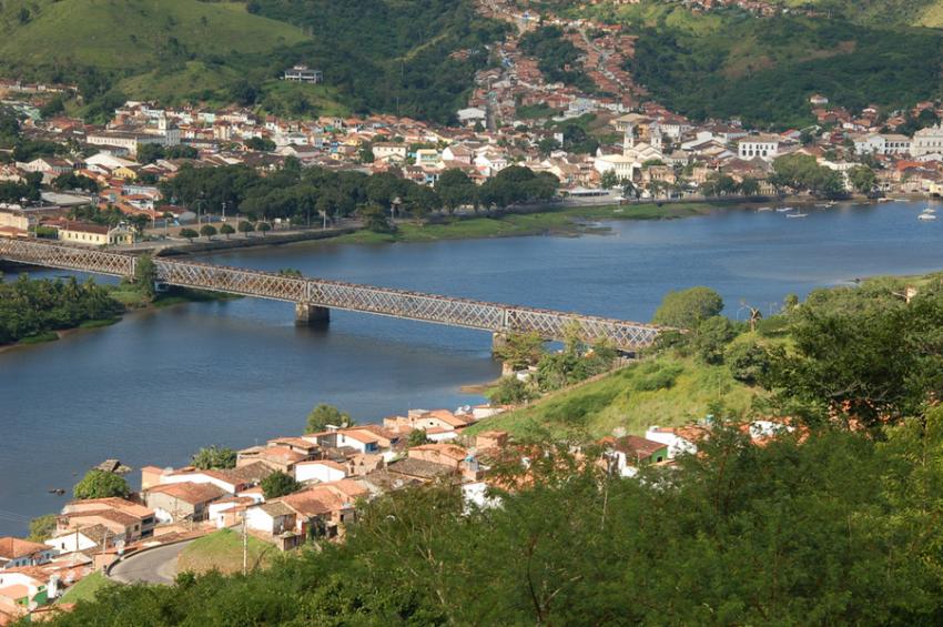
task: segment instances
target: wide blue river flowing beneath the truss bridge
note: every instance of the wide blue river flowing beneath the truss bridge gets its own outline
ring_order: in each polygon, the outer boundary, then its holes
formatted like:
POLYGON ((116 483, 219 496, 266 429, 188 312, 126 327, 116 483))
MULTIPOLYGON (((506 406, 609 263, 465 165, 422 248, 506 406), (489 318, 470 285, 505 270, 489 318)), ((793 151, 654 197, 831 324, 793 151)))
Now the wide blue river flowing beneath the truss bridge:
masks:
MULTIPOLYGON (((924 203, 840 205, 804 220, 730 209, 607 224, 607 235, 375 246, 308 243, 207 261, 647 321, 669 290, 709 285, 732 317, 782 297, 874 274, 943 269, 943 220, 924 203)), ((941 208, 943 216, 943 208, 941 208)), ((54 275, 42 272, 39 275, 54 275)), ((58 510, 90 466, 180 465, 209 444, 244 447, 297 434, 317 403, 363 422, 480 398, 488 334, 332 312, 297 328, 286 303, 191 303, 125 316, 62 341, 0 353, 0 535, 58 510)), ((132 475, 136 482, 138 473, 132 475)))

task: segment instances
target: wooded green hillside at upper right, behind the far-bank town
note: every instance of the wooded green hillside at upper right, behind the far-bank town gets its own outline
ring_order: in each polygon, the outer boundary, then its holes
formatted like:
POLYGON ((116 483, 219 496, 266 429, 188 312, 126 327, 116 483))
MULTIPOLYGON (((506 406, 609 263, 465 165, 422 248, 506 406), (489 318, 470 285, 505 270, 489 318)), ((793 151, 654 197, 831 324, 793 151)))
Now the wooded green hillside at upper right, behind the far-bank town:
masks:
POLYGON ((640 34, 626 68, 658 101, 694 119, 802 127, 814 121, 813 93, 860 110, 905 108, 941 92, 943 34, 935 31, 645 7, 619 16, 640 34))

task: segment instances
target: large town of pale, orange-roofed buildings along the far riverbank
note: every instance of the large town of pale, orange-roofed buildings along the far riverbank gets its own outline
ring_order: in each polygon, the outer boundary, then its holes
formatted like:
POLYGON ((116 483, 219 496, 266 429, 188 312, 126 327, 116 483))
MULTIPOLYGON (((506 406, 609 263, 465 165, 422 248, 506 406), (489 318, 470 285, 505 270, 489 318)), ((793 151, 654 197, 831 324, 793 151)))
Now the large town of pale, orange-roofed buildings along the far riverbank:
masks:
MULTIPOLYGON (((534 14, 500 4, 485 10, 520 32, 496 44, 499 67, 477 74, 454 127, 389 114, 284 119, 236 105, 133 101, 102 127, 63 114, 72 85, 0 81, 0 100, 14 117, 7 135, 16 138, 0 150, 0 235, 126 246, 140 240, 264 235, 311 227, 312 216, 322 229, 377 220, 383 225, 384 211, 394 219, 397 212, 422 219, 462 206, 500 210, 520 200, 618 204, 941 193, 937 103, 851 112, 830 104, 828 94, 813 94, 809 107, 818 122, 775 133, 737 119, 691 121, 647 97, 622 69, 633 41, 619 27, 552 18, 536 31, 534 14), (592 90, 541 72, 523 42, 545 31, 552 32, 541 37, 556 34, 579 51, 592 90), (235 192, 205 194, 203 182, 200 195, 183 198, 171 184, 191 170, 243 166, 270 176, 291 163, 393 176, 438 193, 403 199, 393 188, 353 206, 297 194, 281 210, 274 202, 247 210, 235 192), (511 168, 546 173, 556 189, 550 196, 523 199, 473 193, 469 185, 481 188, 511 168)), ((320 70, 296 65, 283 80, 324 79, 320 70)))

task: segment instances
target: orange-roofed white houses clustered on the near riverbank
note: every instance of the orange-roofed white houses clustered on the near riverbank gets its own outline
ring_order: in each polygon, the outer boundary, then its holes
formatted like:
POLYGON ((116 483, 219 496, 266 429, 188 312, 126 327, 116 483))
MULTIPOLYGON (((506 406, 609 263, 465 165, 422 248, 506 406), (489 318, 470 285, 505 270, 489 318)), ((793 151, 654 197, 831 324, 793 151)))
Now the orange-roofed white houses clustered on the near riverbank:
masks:
MULTIPOLYGON (((247 534, 282 550, 310 540, 339 542, 363 503, 439 482, 457 486, 469 507, 495 506, 499 497, 490 488, 513 485, 491 475, 493 465, 511 461, 526 475, 536 454, 504 431, 464 433, 500 411, 487 405, 457 412, 412 409, 381 425, 275 437, 239 451, 232 468, 145 466, 140 492, 129 498, 70 502, 42 543, 0 538, 0 625, 31 613, 41 619, 82 577, 108 572, 138 550, 216 529, 244 525, 247 534), (424 437, 416 439, 416 432, 424 437), (275 472, 293 477, 300 488, 265 498, 261 484, 275 472)), ((759 419, 742 429, 763 445, 794 427, 789 421, 759 419)), ((710 432, 710 418, 677 428, 652 426, 642 436, 604 437, 595 448, 601 453, 592 457, 577 454, 612 476, 633 477, 647 466, 671 466, 679 455, 697 454, 710 432)))

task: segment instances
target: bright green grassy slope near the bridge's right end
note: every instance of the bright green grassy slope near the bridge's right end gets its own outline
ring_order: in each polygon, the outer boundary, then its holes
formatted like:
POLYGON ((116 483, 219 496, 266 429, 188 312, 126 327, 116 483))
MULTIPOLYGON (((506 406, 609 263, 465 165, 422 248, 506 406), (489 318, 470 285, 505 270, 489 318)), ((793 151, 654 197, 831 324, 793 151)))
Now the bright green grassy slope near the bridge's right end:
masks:
POLYGON ((719 401, 733 413, 748 413, 761 394, 734 381, 727 366, 662 355, 485 419, 472 433, 505 429, 521 437, 543 433, 601 437, 622 427, 641 435, 651 425, 676 426, 703 418, 719 401))

